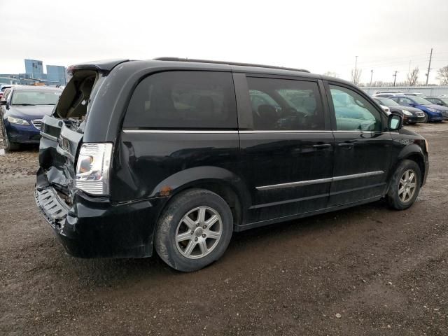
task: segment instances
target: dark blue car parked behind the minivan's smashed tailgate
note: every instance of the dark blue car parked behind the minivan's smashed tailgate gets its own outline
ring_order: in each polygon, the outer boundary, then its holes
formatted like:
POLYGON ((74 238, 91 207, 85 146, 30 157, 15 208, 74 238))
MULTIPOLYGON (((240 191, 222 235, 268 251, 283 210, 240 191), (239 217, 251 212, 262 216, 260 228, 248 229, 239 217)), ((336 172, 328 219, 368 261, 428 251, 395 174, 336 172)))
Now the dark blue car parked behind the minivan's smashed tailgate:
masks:
POLYGON ((52 113, 61 93, 56 87, 11 88, 8 97, 0 101, 6 151, 17 151, 20 144, 38 144, 41 120, 52 113))

